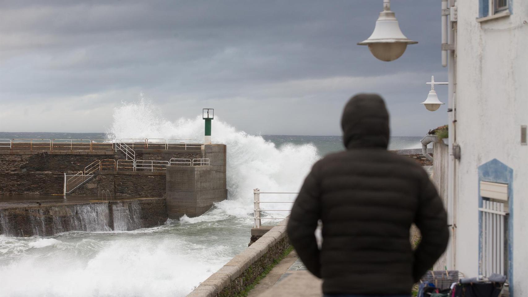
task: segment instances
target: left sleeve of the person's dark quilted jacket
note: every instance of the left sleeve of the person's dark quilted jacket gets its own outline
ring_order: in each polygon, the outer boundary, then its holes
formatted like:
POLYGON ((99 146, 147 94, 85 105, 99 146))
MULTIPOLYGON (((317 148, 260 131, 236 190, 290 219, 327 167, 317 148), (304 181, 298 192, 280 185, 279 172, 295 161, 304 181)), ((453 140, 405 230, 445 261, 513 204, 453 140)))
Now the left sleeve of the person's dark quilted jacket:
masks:
POLYGON ((319 218, 320 186, 316 163, 306 177, 291 209, 287 232, 291 244, 306 268, 320 278, 319 249, 314 235, 319 218))

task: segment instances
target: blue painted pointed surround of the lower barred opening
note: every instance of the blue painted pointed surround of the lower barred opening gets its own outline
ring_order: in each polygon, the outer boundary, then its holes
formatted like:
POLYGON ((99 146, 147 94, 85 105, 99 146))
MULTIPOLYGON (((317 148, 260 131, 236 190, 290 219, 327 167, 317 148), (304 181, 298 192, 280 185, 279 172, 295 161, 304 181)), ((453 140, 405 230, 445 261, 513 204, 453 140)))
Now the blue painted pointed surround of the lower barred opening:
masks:
MULTIPOLYGON (((493 159, 478 167, 478 207, 483 206, 480 196, 480 181, 508 184, 508 283, 510 295, 513 294, 513 169, 497 159, 493 159)), ((482 259, 482 214, 478 212, 478 270, 481 271, 482 259)))

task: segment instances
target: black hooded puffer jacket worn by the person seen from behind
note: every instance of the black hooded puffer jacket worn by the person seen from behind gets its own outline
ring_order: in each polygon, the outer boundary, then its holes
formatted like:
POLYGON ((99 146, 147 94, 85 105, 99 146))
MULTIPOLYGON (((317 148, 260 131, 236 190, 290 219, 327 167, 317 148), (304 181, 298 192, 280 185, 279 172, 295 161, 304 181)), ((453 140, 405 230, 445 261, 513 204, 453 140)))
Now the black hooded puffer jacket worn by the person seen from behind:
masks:
POLYGON ((389 114, 381 97, 353 97, 341 124, 346 151, 319 160, 306 177, 291 211, 290 241, 326 294, 410 294, 447 246, 444 206, 417 162, 386 150, 389 114), (422 234, 414 252, 412 223, 422 234))

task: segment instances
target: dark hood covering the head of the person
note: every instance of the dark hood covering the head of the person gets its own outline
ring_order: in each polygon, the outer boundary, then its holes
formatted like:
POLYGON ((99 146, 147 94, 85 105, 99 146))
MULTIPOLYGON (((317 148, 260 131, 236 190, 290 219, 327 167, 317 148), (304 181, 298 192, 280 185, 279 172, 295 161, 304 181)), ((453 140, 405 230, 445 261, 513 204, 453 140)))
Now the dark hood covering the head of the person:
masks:
POLYGON ((378 94, 357 94, 346 103, 341 118, 346 149, 389 146, 389 112, 378 94))

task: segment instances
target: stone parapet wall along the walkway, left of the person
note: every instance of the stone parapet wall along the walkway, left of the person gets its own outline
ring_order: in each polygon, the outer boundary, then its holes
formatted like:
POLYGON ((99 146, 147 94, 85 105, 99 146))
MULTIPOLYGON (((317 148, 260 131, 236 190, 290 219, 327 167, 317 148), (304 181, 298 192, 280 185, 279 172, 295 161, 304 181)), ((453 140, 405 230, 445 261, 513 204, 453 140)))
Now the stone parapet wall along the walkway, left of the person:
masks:
POLYGON ((244 291, 290 247, 286 235, 287 220, 273 227, 246 250, 232 258, 187 297, 230 297, 244 291))

